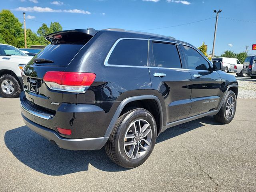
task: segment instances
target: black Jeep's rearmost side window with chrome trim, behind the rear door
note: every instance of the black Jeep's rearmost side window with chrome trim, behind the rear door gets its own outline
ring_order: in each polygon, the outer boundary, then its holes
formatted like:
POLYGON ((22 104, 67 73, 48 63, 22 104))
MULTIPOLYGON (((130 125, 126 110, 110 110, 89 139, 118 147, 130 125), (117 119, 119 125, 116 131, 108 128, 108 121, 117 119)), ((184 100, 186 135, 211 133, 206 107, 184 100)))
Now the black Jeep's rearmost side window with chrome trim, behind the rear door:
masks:
POLYGON ((120 40, 112 51, 108 64, 126 66, 147 66, 148 40, 120 40))

